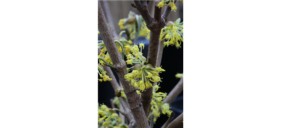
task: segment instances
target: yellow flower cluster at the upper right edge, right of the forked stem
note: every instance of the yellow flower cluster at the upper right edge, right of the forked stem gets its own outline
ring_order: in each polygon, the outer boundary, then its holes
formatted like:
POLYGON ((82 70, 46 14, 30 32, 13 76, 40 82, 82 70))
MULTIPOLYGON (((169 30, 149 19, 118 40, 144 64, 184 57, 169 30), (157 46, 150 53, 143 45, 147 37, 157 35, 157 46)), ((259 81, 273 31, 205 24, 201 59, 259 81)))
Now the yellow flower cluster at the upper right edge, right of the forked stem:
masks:
POLYGON ((167 25, 162 29, 160 40, 166 39, 164 42, 164 46, 176 46, 177 48, 181 48, 182 39, 182 31, 183 27, 181 22, 181 18, 177 19, 176 22, 168 22, 167 25))

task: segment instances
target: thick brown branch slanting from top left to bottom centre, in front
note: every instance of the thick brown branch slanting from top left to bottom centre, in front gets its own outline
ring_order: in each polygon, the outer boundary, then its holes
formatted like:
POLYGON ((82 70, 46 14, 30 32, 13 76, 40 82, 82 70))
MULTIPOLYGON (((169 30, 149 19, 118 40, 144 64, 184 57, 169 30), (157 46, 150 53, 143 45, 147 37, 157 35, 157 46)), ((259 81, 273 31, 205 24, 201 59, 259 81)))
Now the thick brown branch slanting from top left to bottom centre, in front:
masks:
POLYGON ((128 74, 127 66, 125 61, 122 59, 112 38, 112 34, 107 25, 104 13, 101 9, 100 2, 98 0, 98 29, 100 31, 101 37, 104 41, 107 52, 111 56, 112 62, 114 63, 115 71, 124 87, 124 92, 127 96, 129 108, 133 112, 134 118, 136 120, 135 127, 148 128, 149 124, 146 120, 145 113, 143 111, 143 106, 138 98, 138 94, 135 88, 132 88, 131 84, 125 80, 124 76, 128 74))

